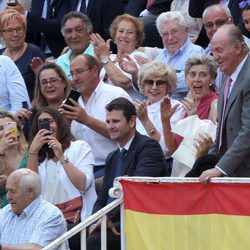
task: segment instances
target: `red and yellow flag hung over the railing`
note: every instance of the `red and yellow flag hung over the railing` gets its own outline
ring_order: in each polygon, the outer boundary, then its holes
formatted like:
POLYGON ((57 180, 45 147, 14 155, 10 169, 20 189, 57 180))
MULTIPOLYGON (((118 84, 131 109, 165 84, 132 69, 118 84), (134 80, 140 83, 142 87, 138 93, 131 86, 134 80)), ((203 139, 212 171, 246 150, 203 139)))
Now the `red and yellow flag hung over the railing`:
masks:
POLYGON ((120 182, 127 250, 250 250, 249 183, 120 182))

